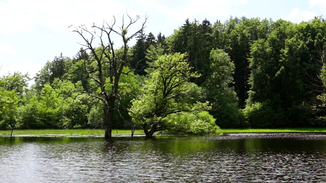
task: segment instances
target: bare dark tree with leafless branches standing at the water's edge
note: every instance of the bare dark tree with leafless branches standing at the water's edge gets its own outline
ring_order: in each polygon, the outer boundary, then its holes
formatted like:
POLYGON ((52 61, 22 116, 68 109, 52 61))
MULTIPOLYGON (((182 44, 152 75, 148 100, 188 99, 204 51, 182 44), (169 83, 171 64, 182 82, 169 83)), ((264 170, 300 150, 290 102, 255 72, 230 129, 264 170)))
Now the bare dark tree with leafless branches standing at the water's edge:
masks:
POLYGON ((91 54, 89 60, 84 60, 84 64, 96 63, 96 65, 91 67, 85 67, 86 69, 83 71, 85 79, 95 83, 96 87, 90 90, 85 88, 79 89, 75 92, 78 92, 80 95, 88 95, 90 101, 97 100, 104 104, 103 126, 105 128, 105 138, 112 136, 113 115, 118 110, 115 106, 115 101, 120 100, 122 97, 119 92, 120 76, 121 74, 129 73, 123 72, 124 67, 127 66, 127 43, 144 30, 148 18, 145 15, 141 28, 128 35, 127 32, 130 26, 136 24, 142 17, 136 16, 132 19, 128 14, 126 16, 127 18, 125 16, 122 17, 122 25, 120 27, 116 25, 116 18, 114 17, 111 24, 103 22, 100 26, 93 24, 91 28, 83 24, 75 27, 73 31, 79 34, 85 41, 84 44, 79 43, 84 47, 84 51, 89 51, 91 54), (119 51, 114 48, 113 35, 118 35, 122 39, 123 43, 119 51), (97 43, 94 43, 95 39, 98 39, 96 40, 97 43), (94 46, 94 44, 98 44, 98 46, 94 46))

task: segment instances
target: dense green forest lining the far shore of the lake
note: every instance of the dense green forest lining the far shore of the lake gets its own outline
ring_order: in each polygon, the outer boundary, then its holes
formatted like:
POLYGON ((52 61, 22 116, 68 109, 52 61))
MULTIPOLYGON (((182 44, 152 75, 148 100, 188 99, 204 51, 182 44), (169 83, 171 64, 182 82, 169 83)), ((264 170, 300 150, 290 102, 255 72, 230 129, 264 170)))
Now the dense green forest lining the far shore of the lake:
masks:
POLYGON ((209 134, 218 130, 215 124, 325 125, 323 18, 187 19, 168 37, 146 35, 144 27, 126 37, 126 28, 93 26, 107 36, 117 33, 123 40, 117 48, 111 39, 94 47, 85 37, 92 32, 77 27, 72 34, 85 44, 75 56, 61 53, 34 78, 2 76, 0 129, 105 128, 111 136, 112 129, 139 128, 151 136, 165 130, 209 134), (129 47, 133 37, 137 41, 129 47))

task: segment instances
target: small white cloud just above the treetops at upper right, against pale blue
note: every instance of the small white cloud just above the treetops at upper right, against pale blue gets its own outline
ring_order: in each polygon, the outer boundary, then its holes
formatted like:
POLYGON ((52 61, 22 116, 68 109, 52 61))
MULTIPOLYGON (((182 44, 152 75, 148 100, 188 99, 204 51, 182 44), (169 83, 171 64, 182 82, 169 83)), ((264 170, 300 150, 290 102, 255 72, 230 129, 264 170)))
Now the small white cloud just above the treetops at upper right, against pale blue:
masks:
POLYGON ((285 18, 291 22, 300 23, 302 21, 309 21, 316 16, 316 12, 309 10, 300 10, 300 8, 293 8, 290 14, 285 18))

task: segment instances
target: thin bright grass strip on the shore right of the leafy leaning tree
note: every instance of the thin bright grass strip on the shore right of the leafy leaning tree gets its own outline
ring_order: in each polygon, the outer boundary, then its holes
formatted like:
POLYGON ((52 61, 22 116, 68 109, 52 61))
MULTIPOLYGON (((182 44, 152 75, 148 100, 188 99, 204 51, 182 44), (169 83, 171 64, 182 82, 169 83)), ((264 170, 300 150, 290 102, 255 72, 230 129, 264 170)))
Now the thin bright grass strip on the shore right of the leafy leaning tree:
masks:
POLYGON ((326 128, 286 128, 286 129, 221 129, 222 133, 326 133, 326 128))

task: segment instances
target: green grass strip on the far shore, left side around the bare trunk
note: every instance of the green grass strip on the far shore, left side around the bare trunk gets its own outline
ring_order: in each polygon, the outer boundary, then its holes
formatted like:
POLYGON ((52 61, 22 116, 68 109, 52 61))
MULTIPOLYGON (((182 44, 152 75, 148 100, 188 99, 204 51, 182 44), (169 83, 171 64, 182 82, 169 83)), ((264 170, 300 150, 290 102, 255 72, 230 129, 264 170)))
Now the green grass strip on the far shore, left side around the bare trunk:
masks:
MULTIPOLYGON (((0 131, 0 135, 10 135, 11 130, 0 131)), ((104 135, 104 130, 96 129, 45 129, 45 130, 14 130, 13 135, 104 135)), ((112 134, 131 134, 131 130, 113 130, 112 134)), ((136 130, 134 134, 143 134, 136 130)))

